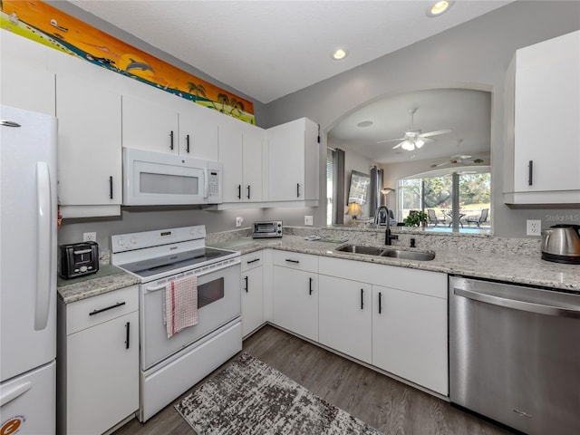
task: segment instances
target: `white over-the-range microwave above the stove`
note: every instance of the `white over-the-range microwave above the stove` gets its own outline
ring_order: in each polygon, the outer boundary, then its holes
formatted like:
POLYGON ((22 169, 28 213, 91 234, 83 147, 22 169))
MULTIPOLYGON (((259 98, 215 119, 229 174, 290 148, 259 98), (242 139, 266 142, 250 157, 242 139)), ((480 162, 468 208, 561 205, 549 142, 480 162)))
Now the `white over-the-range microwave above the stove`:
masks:
POLYGON ((218 161, 123 148, 123 205, 221 204, 218 161))

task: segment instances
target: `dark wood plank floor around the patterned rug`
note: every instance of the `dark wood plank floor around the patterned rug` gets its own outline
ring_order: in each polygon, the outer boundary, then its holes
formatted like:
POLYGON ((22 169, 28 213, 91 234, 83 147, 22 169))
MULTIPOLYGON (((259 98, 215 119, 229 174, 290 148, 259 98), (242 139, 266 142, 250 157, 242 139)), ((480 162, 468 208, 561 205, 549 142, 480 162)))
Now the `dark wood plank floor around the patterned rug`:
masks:
MULTIPOLYGON (((511 433, 269 325, 247 338, 244 351, 385 435, 511 433)), ((195 432, 170 404, 147 423, 131 420, 115 432, 115 435, 129 434, 193 435, 195 432)))

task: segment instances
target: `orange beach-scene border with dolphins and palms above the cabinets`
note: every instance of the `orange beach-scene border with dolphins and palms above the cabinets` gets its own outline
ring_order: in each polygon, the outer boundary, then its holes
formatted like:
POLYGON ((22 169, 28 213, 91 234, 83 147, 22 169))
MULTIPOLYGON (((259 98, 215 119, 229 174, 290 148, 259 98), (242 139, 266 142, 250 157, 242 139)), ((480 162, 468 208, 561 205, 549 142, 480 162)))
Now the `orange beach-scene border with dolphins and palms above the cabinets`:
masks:
POLYGON ((254 105, 42 1, 0 0, 0 26, 37 43, 256 124, 254 105))

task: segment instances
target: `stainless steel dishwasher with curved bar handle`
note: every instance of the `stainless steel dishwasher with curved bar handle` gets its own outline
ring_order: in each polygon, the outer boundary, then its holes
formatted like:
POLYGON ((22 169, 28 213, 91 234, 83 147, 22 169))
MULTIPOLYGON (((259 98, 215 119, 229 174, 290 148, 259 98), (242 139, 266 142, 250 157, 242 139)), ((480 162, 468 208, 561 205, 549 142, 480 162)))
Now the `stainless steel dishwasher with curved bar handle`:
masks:
POLYGON ((580 433, 580 294, 449 276, 449 399, 529 434, 580 433))

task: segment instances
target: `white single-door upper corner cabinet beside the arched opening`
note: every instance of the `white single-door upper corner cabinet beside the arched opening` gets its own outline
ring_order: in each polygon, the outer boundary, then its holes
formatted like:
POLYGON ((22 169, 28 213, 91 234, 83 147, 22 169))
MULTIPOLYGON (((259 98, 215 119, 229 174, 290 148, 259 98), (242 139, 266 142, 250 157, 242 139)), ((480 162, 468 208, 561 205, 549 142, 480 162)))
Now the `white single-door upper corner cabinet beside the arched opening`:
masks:
POLYGON ((266 201, 318 205, 318 125, 301 118, 268 129, 266 137, 266 201))

